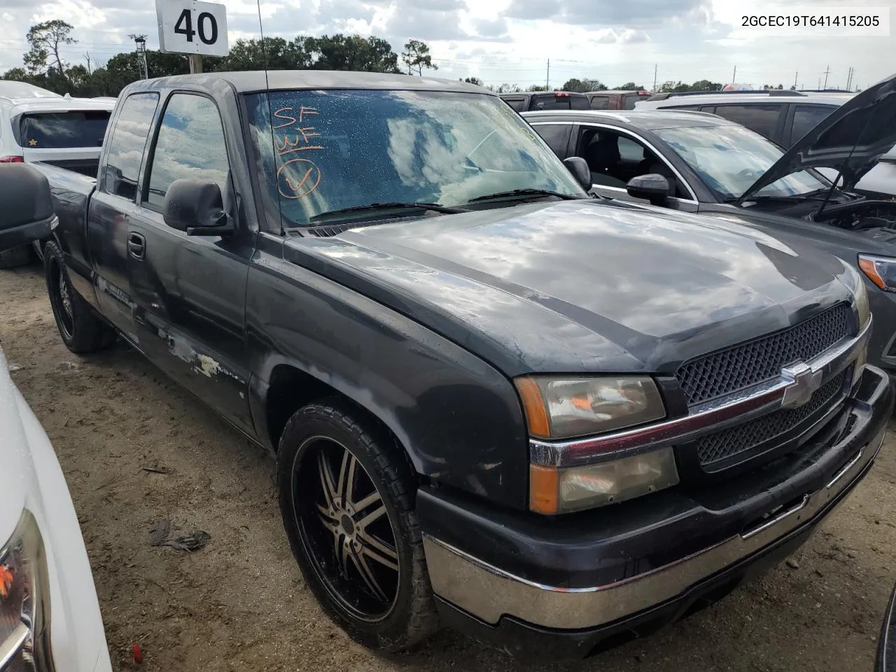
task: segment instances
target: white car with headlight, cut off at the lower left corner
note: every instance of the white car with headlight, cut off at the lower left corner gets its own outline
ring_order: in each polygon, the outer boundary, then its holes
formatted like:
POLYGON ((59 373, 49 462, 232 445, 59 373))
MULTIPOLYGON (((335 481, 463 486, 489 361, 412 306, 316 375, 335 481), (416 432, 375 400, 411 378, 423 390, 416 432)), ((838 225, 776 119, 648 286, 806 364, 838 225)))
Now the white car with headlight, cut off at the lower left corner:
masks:
POLYGON ((0 436, 0 670, 111 672, 72 497, 2 349, 0 436))

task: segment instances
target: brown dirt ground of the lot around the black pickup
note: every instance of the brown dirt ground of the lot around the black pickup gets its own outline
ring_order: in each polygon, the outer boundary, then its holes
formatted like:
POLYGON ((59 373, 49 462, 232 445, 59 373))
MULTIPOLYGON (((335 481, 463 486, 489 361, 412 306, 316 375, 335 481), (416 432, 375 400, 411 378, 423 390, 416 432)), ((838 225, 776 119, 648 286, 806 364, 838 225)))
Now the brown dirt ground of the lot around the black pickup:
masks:
MULTIPOLYGON (((0 338, 13 380, 68 478, 117 670, 870 670, 896 579, 896 442, 795 556, 649 639, 564 666, 513 661, 438 633, 380 658, 306 590, 280 525, 274 462, 141 356, 78 358, 37 269, 0 271, 0 338), (16 368, 17 367, 17 368, 16 368), (151 465, 170 470, 143 470, 151 465), (152 547, 155 521, 207 530, 194 554, 152 547)), ((181 533, 183 533, 181 532, 181 533)))

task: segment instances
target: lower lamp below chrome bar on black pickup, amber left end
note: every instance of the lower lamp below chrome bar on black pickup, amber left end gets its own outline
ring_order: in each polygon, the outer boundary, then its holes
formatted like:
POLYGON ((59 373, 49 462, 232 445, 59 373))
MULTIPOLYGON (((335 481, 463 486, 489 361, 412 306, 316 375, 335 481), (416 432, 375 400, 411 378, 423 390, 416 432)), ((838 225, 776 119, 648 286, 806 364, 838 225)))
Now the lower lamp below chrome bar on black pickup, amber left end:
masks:
POLYGON ((671 447, 581 467, 530 465, 529 508, 569 513, 647 495, 678 483, 671 447))

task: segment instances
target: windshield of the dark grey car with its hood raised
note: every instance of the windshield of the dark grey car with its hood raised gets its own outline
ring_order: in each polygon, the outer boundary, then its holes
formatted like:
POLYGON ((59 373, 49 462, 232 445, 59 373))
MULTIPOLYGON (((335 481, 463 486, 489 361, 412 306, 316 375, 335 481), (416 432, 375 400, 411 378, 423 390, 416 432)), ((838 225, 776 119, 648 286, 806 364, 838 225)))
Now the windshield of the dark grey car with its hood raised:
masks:
MULTIPOLYGON (((784 152, 742 126, 688 126, 654 131, 719 198, 744 195, 784 152)), ((831 183, 807 170, 800 170, 762 187, 756 197, 785 197, 810 194, 830 188, 831 183)))

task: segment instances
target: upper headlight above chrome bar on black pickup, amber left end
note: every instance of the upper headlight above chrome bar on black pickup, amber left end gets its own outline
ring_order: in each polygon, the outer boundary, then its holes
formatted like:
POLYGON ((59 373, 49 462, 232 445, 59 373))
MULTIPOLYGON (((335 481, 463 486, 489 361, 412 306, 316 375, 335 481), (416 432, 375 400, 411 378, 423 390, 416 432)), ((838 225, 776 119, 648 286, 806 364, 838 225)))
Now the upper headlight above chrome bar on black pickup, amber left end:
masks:
POLYGON ((525 376, 517 378, 532 436, 565 439, 641 425, 666 417, 649 377, 525 376))

